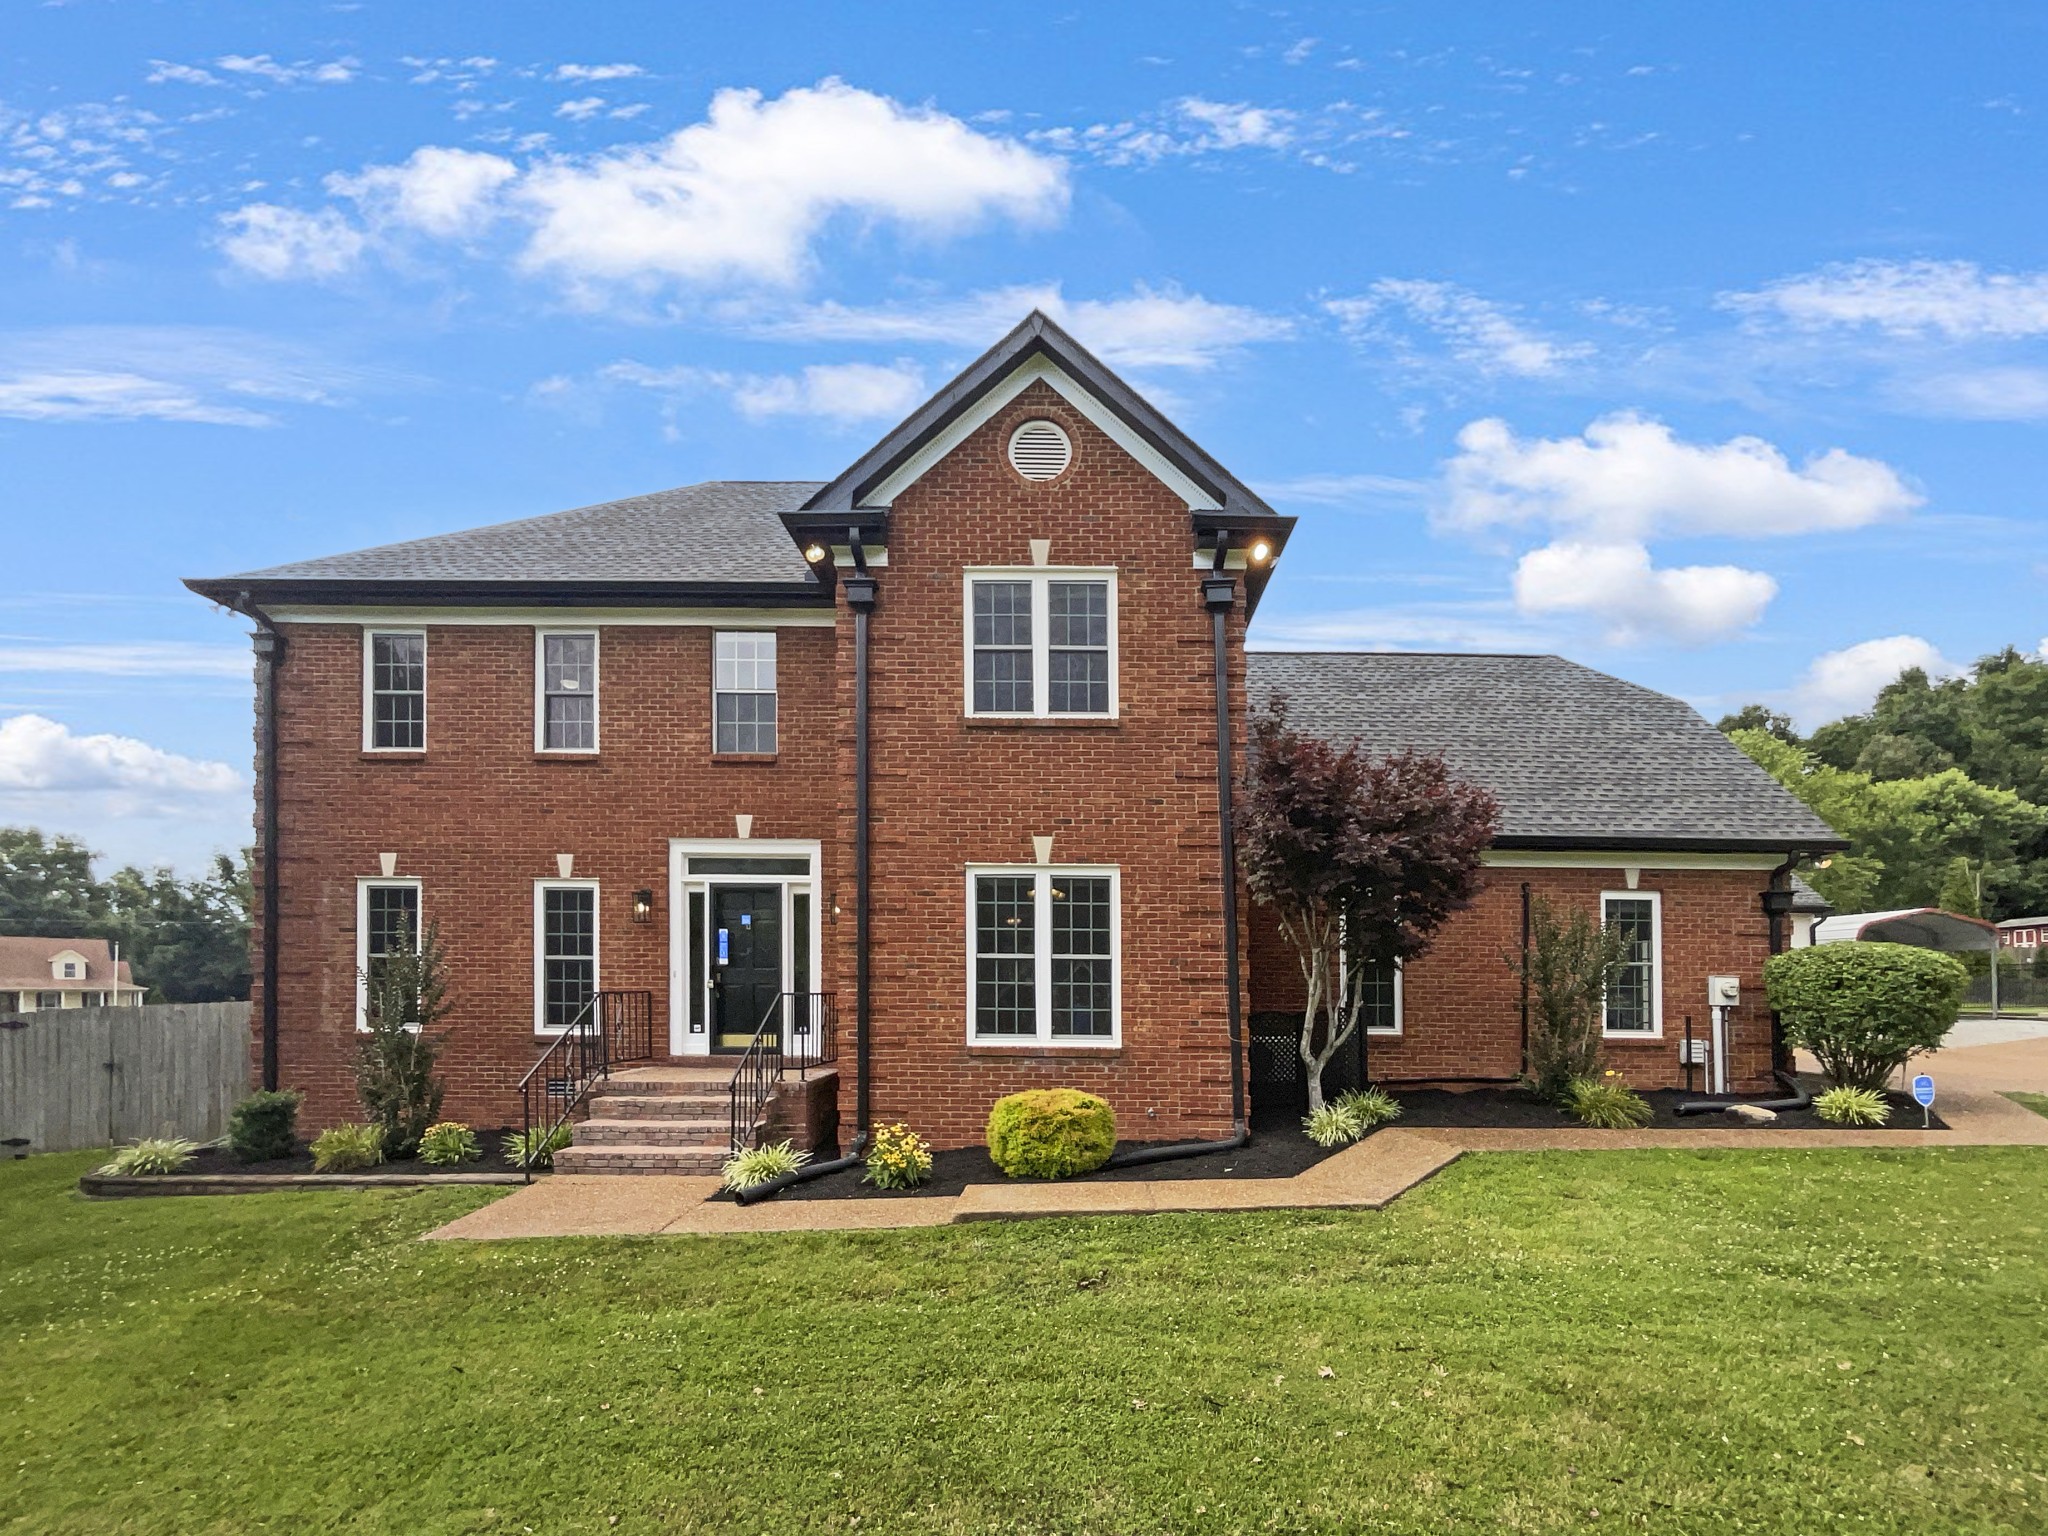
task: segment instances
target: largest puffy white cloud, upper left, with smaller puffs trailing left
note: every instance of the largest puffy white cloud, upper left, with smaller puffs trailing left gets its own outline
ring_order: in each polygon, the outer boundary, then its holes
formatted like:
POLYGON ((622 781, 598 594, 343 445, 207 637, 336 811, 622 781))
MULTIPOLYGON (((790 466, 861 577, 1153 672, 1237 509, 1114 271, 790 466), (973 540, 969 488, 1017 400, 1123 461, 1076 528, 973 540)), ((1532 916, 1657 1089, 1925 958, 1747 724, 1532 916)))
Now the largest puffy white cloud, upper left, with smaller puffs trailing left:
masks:
MULTIPOLYGON (((1067 168, 1014 139, 981 133, 928 106, 856 90, 840 80, 766 98, 721 90, 709 117, 666 139, 592 156, 553 156, 524 170, 496 156, 420 150, 403 166, 369 166, 330 178, 330 190, 408 186, 432 164, 438 180, 463 172, 442 223, 469 229, 494 207, 526 231, 518 262, 559 276, 584 297, 608 287, 793 287, 834 219, 895 225, 934 240, 989 219, 1057 221, 1067 209, 1067 168)), ((315 213, 256 203, 227 215, 223 248, 260 276, 334 276, 383 233, 338 209, 315 213)))

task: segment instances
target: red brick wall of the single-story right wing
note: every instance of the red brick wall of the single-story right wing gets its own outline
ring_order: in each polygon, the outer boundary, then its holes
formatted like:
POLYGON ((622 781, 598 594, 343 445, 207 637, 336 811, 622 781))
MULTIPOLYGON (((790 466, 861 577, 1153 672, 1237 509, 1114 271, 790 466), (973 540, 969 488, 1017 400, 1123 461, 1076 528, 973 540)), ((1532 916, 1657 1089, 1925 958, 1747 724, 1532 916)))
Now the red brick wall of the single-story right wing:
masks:
MULTIPOLYGON (((1522 944, 1522 883, 1552 903, 1597 911, 1602 891, 1624 891, 1620 868, 1493 868, 1470 911, 1452 918, 1430 952, 1403 975, 1403 1034, 1368 1042, 1374 1079, 1513 1077, 1522 1067, 1520 983, 1505 958, 1522 944)), ((1606 1040, 1608 1063, 1636 1087, 1683 1087, 1686 1014, 1706 1038, 1706 979, 1735 975, 1731 1071, 1741 1092, 1769 1087, 1772 1016, 1763 1004, 1769 928, 1767 870, 1645 868, 1638 891, 1663 895, 1663 1038, 1606 1040)), ((1262 907, 1251 911, 1251 999, 1262 1012, 1298 1016, 1305 999, 1294 950, 1262 907)), ((1704 1087, 1704 1075, 1694 1083, 1704 1087)))

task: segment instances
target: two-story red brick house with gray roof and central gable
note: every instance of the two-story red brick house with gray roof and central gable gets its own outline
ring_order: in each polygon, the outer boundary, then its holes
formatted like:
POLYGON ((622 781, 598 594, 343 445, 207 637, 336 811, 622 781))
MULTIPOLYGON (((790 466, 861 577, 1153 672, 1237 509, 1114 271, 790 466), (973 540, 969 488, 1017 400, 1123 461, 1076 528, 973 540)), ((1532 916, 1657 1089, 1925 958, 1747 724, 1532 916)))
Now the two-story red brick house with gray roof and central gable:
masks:
POLYGON ((842 1139, 967 1145, 1028 1085, 1104 1094, 1133 1141, 1229 1135, 1296 983, 1219 784, 1286 692, 1507 809, 1479 907, 1384 979, 1374 1075, 1516 1073, 1530 887, 1640 934, 1632 1077, 1683 1081, 1726 973, 1763 1085, 1769 913, 1829 829, 1688 707, 1554 657, 1247 655, 1292 526, 1034 313, 823 485, 190 582, 258 625, 260 1075, 350 1118, 360 975, 434 922, 446 1112, 479 1124, 623 999, 637 1055, 715 1083, 764 1020, 819 1055, 836 1016, 842 1139))

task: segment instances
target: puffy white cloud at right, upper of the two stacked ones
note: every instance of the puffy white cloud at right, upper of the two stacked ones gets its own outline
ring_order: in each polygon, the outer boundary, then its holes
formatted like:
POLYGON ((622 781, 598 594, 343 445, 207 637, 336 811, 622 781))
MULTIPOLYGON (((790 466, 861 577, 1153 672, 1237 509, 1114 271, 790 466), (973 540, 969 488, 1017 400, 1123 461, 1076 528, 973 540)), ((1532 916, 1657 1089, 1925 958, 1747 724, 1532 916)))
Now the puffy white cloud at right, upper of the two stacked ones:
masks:
POLYGON ((1440 516, 1460 528, 1534 522, 1630 543, 1862 528, 1919 504, 1876 459, 1829 449, 1794 467, 1763 438, 1679 442, 1663 422, 1618 412, 1571 438, 1518 438, 1497 418, 1470 422, 1444 469, 1440 516))

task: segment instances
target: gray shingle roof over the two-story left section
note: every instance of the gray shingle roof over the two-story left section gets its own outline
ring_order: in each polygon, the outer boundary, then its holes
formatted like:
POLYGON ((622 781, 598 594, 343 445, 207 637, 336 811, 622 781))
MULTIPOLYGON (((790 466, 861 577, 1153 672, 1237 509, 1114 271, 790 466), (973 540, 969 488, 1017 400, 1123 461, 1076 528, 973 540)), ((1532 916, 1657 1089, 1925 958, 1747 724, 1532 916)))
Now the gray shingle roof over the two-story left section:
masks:
POLYGON ((711 479, 221 580, 809 582, 778 514, 817 487, 815 479, 711 479))

